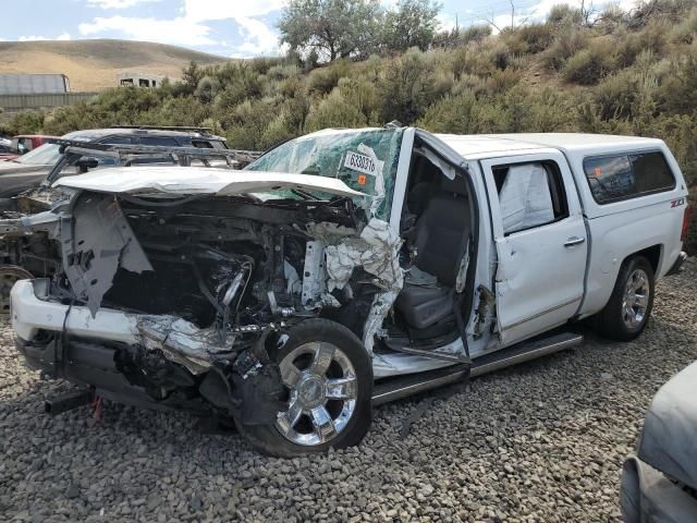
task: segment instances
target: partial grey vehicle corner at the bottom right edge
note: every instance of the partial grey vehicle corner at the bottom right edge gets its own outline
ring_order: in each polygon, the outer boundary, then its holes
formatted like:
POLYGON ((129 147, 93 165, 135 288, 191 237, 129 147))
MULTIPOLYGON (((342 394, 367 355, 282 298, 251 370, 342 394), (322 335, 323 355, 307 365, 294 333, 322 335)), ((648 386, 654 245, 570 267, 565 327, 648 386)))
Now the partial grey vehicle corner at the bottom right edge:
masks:
POLYGON ((625 523, 697 521, 697 362, 653 397, 636 455, 624 463, 625 523))

